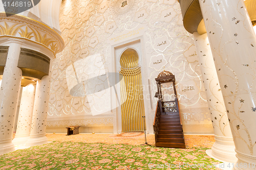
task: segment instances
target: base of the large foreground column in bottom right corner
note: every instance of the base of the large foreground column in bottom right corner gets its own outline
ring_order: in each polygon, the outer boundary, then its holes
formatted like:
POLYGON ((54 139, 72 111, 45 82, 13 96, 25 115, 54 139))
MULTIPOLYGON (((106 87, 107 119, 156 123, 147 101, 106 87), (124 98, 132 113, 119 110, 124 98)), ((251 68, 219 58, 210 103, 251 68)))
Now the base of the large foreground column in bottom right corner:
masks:
POLYGON ((251 155, 242 154, 237 152, 238 161, 234 164, 234 168, 236 170, 255 170, 256 169, 256 157, 252 157, 251 155))

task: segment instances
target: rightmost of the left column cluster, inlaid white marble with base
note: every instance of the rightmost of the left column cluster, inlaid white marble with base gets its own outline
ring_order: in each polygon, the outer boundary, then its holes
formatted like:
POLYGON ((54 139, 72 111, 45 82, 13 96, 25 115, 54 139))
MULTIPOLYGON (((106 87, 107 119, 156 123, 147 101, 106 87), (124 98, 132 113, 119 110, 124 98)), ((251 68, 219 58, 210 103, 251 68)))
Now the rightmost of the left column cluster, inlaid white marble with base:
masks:
POLYGON ((49 103, 50 83, 52 74, 52 60, 50 61, 49 76, 42 77, 36 83, 35 102, 32 116, 30 138, 26 146, 45 144, 48 142, 46 137, 46 123, 49 103))

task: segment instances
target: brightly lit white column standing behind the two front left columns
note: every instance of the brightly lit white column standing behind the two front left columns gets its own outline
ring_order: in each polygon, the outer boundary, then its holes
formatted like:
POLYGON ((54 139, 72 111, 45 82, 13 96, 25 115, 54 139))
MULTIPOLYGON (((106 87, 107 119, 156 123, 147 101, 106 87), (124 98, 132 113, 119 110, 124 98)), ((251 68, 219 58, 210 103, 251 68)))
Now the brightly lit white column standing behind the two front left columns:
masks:
POLYGON ((15 138, 12 140, 14 145, 25 144, 30 136, 30 128, 33 115, 36 85, 28 85, 22 89, 22 99, 20 101, 18 122, 15 138))

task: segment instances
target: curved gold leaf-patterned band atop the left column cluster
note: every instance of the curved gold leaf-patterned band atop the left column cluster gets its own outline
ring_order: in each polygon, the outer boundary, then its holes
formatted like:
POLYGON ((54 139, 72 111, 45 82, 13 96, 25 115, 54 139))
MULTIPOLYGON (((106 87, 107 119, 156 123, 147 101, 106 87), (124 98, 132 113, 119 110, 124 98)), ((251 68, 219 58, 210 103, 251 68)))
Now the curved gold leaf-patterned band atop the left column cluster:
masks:
POLYGON ((4 36, 34 41, 46 46, 55 55, 65 46, 61 36, 53 29, 22 15, 7 17, 5 13, 0 13, 0 38, 4 36))

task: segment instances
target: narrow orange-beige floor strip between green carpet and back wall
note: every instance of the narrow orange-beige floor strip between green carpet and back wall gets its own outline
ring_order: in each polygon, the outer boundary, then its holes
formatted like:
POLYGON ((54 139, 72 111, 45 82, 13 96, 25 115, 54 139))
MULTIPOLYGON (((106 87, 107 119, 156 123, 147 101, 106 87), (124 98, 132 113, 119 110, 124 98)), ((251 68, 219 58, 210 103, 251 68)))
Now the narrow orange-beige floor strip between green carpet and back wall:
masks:
MULTIPOLYGON (((123 143, 139 145, 145 143, 145 135, 143 132, 126 132, 121 134, 76 134, 66 136, 66 134, 47 134, 49 141, 72 141, 87 143, 123 143)), ((214 144, 214 135, 184 135, 186 148, 205 147, 211 148, 214 144)), ((147 142, 151 145, 155 144, 155 135, 147 134, 147 142)))

